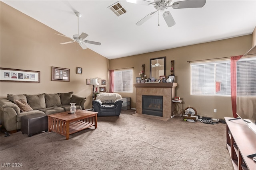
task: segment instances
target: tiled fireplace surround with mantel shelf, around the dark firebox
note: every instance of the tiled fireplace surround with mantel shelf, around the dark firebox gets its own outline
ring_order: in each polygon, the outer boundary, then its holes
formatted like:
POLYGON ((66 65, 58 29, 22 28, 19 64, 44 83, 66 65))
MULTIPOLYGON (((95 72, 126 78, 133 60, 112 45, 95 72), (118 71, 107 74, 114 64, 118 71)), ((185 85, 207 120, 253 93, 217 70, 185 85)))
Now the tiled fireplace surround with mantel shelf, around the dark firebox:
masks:
POLYGON ((172 99, 178 83, 134 83, 136 88, 136 113, 142 113, 142 95, 163 96, 163 117, 172 115, 172 99))

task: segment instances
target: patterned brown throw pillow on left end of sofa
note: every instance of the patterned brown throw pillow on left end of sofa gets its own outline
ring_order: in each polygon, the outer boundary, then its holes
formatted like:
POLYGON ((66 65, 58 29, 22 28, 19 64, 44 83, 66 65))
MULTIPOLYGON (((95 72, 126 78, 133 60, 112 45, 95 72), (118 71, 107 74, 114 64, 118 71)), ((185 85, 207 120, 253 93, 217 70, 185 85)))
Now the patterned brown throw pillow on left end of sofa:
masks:
POLYGON ((35 95, 26 95, 28 104, 34 109, 42 109, 46 108, 45 104, 45 95, 42 94, 35 94, 35 95))

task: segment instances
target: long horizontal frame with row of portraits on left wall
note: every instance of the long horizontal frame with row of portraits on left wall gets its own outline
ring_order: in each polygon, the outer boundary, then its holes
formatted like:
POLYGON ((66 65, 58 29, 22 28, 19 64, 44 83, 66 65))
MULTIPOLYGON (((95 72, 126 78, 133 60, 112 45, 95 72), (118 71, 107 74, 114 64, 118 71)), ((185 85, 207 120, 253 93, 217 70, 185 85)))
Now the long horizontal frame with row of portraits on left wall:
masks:
POLYGON ((40 83, 40 71, 0 68, 0 82, 40 83))

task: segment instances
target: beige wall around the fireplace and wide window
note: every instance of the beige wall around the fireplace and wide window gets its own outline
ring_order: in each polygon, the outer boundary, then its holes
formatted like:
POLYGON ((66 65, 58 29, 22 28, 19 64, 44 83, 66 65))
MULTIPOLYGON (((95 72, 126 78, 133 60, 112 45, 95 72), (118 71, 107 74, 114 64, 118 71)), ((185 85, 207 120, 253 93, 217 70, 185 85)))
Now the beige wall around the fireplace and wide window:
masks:
MULTIPOLYGON (((187 61, 213 59, 220 57, 231 57, 243 55, 252 47, 252 35, 190 45, 175 49, 157 51, 141 55, 134 55, 120 59, 110 60, 110 69, 134 67, 134 83, 138 73, 145 64, 145 74, 150 76, 150 59, 166 56, 166 75, 170 75, 171 60, 174 60, 175 82, 178 83, 176 96, 184 100, 185 107, 194 107, 198 115, 214 118, 232 117, 231 97, 218 96, 191 96, 190 95, 190 64, 187 61), (217 109, 217 113, 213 112, 217 109)), ((133 93, 122 93, 122 96, 131 97, 131 107, 135 108, 135 88, 133 93)))

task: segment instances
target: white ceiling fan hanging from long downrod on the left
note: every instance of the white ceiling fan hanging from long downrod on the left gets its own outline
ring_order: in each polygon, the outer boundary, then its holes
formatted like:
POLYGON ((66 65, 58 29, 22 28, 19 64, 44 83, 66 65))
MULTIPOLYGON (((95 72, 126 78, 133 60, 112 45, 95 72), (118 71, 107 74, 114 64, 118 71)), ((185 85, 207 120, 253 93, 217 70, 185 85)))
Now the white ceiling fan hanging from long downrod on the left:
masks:
MULTIPOLYGON (((101 45, 101 43, 99 43, 99 42, 84 40, 84 39, 88 36, 87 33, 81 33, 81 34, 79 35, 79 22, 78 22, 78 20, 79 20, 79 18, 80 18, 82 15, 81 15, 79 12, 75 12, 75 14, 76 14, 76 16, 77 16, 77 27, 78 27, 78 29, 77 29, 77 34, 73 35, 72 38, 68 37, 68 38, 72 39, 72 41, 68 41, 68 42, 60 43, 60 44, 68 44, 68 43, 77 42, 77 43, 82 47, 82 49, 87 49, 85 43, 95 44, 95 45, 101 45)), ((56 34, 57 34, 57 33, 56 33, 56 34)), ((57 34, 57 35, 61 35, 61 34, 57 34)), ((67 36, 65 36, 65 35, 61 35, 61 36, 67 37, 67 36)))

